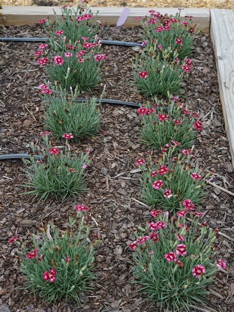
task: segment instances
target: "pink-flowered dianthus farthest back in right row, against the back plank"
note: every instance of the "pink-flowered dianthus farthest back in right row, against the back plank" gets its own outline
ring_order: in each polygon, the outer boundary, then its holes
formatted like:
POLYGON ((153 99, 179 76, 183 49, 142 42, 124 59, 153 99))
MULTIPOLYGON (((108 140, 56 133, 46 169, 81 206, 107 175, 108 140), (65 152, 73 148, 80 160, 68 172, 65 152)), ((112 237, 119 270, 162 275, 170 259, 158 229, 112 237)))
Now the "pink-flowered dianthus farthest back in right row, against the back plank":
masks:
MULTIPOLYGON (((193 16, 187 15, 182 19, 180 11, 176 16, 162 15, 154 10, 150 10, 150 13, 150 18, 142 22, 141 36, 148 53, 171 47, 173 52, 177 52, 180 60, 188 57, 192 52, 195 35, 198 33, 197 27, 192 27, 193 16)), ((170 54, 171 60, 172 57, 170 54)))

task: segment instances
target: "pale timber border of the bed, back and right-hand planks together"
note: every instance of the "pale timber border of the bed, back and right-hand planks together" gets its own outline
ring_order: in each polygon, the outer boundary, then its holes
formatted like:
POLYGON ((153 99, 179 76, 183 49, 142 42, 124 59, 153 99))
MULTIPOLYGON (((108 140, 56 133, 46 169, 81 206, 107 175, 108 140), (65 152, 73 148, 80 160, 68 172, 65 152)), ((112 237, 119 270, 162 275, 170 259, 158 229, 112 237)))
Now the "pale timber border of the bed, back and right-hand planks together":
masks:
MULTIPOLYGON (((149 15, 149 9, 173 15, 178 12, 177 8, 130 8, 124 26, 139 25, 139 21, 135 18, 149 15)), ((59 7, 3 6, 0 12, 0 24, 25 25, 37 23, 42 18, 53 19, 53 10, 58 15, 61 13, 59 7)), ((115 25, 123 8, 91 7, 91 10, 94 14, 98 12, 98 19, 103 24, 115 25)), ((226 9, 185 8, 181 16, 185 15, 194 16, 194 24, 198 24, 202 32, 210 33, 213 42, 220 100, 234 167, 234 13, 226 9)))

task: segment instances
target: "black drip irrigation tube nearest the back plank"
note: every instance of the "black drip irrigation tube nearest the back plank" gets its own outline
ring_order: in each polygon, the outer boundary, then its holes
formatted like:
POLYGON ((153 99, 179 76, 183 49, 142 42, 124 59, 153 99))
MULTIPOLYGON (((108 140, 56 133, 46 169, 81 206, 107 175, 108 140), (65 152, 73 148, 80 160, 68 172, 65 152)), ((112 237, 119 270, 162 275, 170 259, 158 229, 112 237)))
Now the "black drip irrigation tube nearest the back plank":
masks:
MULTIPOLYGON (((48 42, 49 38, 0 38, 0 41, 6 42, 48 42)), ((116 40, 100 40, 102 44, 106 45, 121 45, 121 46, 142 46, 141 43, 116 41, 116 40)))

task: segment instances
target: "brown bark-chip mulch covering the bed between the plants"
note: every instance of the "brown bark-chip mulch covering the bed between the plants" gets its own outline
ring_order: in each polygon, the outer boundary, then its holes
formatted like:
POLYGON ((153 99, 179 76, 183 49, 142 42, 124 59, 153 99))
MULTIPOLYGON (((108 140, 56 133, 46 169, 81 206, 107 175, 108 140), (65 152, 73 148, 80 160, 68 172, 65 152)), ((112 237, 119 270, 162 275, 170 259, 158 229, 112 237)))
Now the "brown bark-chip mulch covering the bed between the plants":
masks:
MULTIPOLYGON (((104 27, 103 39, 138 41, 139 28, 104 27)), ((38 25, 10 26, 3 29, 3 36, 40 36, 38 25)), ((45 78, 43 69, 35 62, 34 52, 39 43, 1 42, 1 123, 0 154, 27 153, 29 142, 39 140, 43 130, 44 108, 33 86, 45 78)), ((108 60, 103 66, 103 85, 107 85, 106 98, 139 102, 139 95, 131 84, 131 47, 103 46, 108 60)), ((185 81, 186 100, 190 110, 199 112, 204 129, 197 134, 195 158, 202 170, 212 173, 214 183, 231 190, 233 168, 219 99, 212 44, 208 35, 199 34, 195 39, 194 67, 185 81)), ((93 91, 100 95, 102 87, 93 91)), ((151 219, 149 209, 134 199, 138 196, 140 174, 134 161, 145 155, 147 147, 139 140, 141 121, 136 110, 127 107, 102 105, 102 126, 99 135, 76 144, 81 151, 91 146, 92 162, 88 168, 90 191, 82 200, 90 210, 86 223, 93 234, 102 238, 96 250, 97 280, 93 291, 81 297, 81 307, 72 302, 44 304, 39 297, 22 290, 25 280, 19 272, 15 258, 16 245, 7 239, 17 233, 22 240, 30 239, 39 227, 45 228, 49 220, 61 229, 67 227, 68 217, 75 216, 76 200, 64 202, 50 198, 38 203, 26 195, 22 182, 24 175, 20 160, 0 163, 0 311, 38 312, 153 312, 150 303, 131 283, 131 252, 126 243, 134 238, 137 226, 151 219)), ((204 212, 208 226, 225 234, 218 235, 217 251, 228 263, 228 274, 218 272, 206 310, 232 312, 234 294, 234 267, 232 245, 233 201, 226 193, 207 186, 207 196, 198 206, 204 212)), ((194 310, 191 308, 191 312, 194 310)), ((200 310, 204 311, 204 310, 200 310)))

